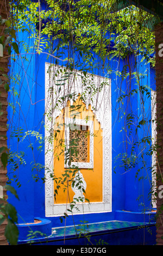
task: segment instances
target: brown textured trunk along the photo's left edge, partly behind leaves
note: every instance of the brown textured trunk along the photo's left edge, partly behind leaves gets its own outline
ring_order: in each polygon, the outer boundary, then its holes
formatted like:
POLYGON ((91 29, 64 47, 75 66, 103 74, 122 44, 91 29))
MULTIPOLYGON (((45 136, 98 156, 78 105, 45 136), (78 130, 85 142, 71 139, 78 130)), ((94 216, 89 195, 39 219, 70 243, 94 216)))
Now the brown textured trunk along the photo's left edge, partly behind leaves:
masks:
MULTIPOLYGON (((9 2, 8 0, 0 0, 0 15, 2 19, 8 19, 9 16, 9 2)), ((0 25, 0 35, 4 35, 4 28, 5 25, 0 25)), ((6 36, 5 36, 6 38, 6 36)), ((5 39, 4 39, 5 40, 5 39)), ((3 51, 3 57, 7 57, 7 47, 5 47, 5 50, 3 51)), ((3 112, 0 114, 0 148, 1 147, 7 147, 7 97, 8 93, 4 89, 4 83, 6 80, 5 76, 2 76, 2 74, 8 75, 8 58, 0 57, 0 104, 1 104, 1 110, 0 112, 3 112)), ((3 168, 2 163, 0 163, 0 185, 5 186, 7 182, 7 168, 3 168)), ((6 191, 3 190, 3 196, 7 198, 6 191)), ((0 199, 1 203, 1 199, 0 199)), ((7 225, 7 221, 3 222, 0 225, 0 245, 8 245, 8 241, 4 235, 5 227, 7 225)))

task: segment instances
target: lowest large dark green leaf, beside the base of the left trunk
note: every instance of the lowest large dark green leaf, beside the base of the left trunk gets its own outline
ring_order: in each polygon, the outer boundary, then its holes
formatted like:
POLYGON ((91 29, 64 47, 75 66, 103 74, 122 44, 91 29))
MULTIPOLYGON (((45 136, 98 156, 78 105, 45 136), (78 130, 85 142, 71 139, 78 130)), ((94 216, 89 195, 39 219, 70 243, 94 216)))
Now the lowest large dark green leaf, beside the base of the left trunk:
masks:
POLYGON ((5 237, 11 245, 17 245, 18 228, 10 219, 8 220, 8 224, 5 228, 5 237))

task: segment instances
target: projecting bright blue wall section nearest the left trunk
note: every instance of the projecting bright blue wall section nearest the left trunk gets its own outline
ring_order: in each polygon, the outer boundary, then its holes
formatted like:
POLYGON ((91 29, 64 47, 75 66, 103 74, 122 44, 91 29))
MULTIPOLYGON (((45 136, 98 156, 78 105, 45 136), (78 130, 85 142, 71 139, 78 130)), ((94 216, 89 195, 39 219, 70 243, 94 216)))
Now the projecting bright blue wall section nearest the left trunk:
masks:
MULTIPOLYGON (((27 41, 27 33, 20 33, 18 40, 27 41)), ((11 182, 11 185, 16 188, 18 197, 20 198, 20 200, 17 200, 14 196, 9 194, 9 202, 15 205, 18 212, 19 222, 32 222, 34 220, 35 184, 32 179, 30 167, 33 152, 31 148, 28 147, 28 136, 23 141, 21 137, 24 135, 24 132, 34 129, 35 106, 32 105, 32 102, 35 100, 35 93, 33 91, 33 70, 35 69, 35 56, 31 54, 33 53, 33 45, 34 40, 31 38, 28 41, 29 54, 26 56, 28 61, 25 59, 23 54, 22 56, 15 56, 15 60, 11 60, 14 62, 14 65, 12 65, 11 62, 10 71, 11 86, 8 99, 8 147, 13 152, 25 152, 24 159, 26 159, 26 166, 23 166, 23 164, 19 163, 19 168, 17 168, 14 173, 12 173, 12 170, 10 169, 12 164, 8 164, 9 178, 14 180, 11 182), (14 69, 12 69, 12 66, 14 66, 14 69), (16 78, 16 76, 20 77, 20 81, 19 78, 16 78), (12 90, 12 87, 14 90, 12 90), (13 109, 12 104, 15 105, 15 109, 13 109), (23 133, 21 133, 21 131, 23 131, 23 133), (16 181, 16 179, 18 180, 16 181), (20 182, 20 184, 18 184, 18 182, 20 182), (18 187, 19 185, 21 186, 18 187)), ((30 143, 34 143, 34 138, 30 138, 30 143)))

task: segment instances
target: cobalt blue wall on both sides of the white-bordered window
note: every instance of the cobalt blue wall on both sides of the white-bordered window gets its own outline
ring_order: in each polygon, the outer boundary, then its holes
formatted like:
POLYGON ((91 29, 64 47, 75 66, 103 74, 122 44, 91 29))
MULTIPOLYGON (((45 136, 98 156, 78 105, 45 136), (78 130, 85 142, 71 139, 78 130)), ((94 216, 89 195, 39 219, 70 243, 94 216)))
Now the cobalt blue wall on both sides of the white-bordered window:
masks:
MULTIPOLYGON (((33 45, 33 41, 30 42, 33 45)), ((18 107, 17 113, 14 116, 14 123, 22 127, 23 131, 27 130, 35 130, 39 131, 39 133, 44 136, 44 117, 43 113, 45 111, 45 62, 54 62, 54 59, 47 59, 47 54, 34 54, 32 55, 31 62, 24 62, 24 69, 27 70, 26 74, 22 74, 23 86, 21 88, 21 111, 18 107), (34 76, 33 76, 34 75, 34 76), (27 78, 28 77, 28 78, 27 78), (27 83, 28 81, 28 83, 27 83), (29 92, 32 92, 32 101, 30 101, 29 92), (28 92, 28 93, 27 93, 28 92), (23 114, 22 114, 23 113, 23 114), (20 115, 19 115, 20 114, 20 115)), ((66 56, 66 53, 65 53, 66 56)), ((63 56, 62 58, 65 58, 63 56)), ((78 56, 76 57, 78 58, 78 56)), ((130 63, 133 63, 134 57, 130 56, 130 63)), ((21 61, 18 59, 18 61, 21 61)), ((111 78, 111 100, 112 100, 112 212, 105 214, 89 214, 85 217, 86 221, 96 222, 96 221, 106 221, 113 220, 115 217, 115 211, 117 210, 125 210, 125 211, 142 211, 142 207, 140 207, 140 200, 137 200, 139 196, 144 194, 143 200, 145 200, 145 204, 148 207, 148 192, 149 192, 149 184, 148 180, 135 179, 136 168, 131 169, 129 172, 124 174, 124 169, 116 170, 114 172, 114 159, 118 154, 121 154, 124 150, 124 145, 121 143, 124 141, 124 133, 120 132, 125 124, 124 119, 120 118, 126 109, 126 115, 133 111, 135 116, 140 114, 141 120, 141 111, 140 111, 140 99, 139 94, 135 94, 130 97, 130 102, 128 102, 128 97, 124 98, 124 109, 120 109, 117 103, 117 99, 120 96, 121 88, 123 92, 126 92, 127 87, 129 86, 129 81, 126 79, 122 80, 121 77, 118 77, 116 71, 122 71, 124 67, 124 63, 126 60, 122 59, 113 59, 111 60, 112 74, 109 75, 111 78), (118 88, 117 88, 118 87, 118 88), (146 182, 147 181, 147 182, 146 182), (143 183, 142 183, 143 182, 143 183)), ((59 63, 65 64, 65 63, 59 63)), ((17 65, 17 70, 20 64, 17 65)), ((146 66, 142 65, 142 69, 146 69, 146 66)), ((133 66, 134 69, 134 66, 133 66)), ((99 74, 99 70, 93 70, 95 74, 99 74)), ((129 72, 129 70, 128 70, 129 72)), ((153 77, 152 73, 152 77, 153 77)), ((134 77, 132 82, 132 89, 137 89, 137 85, 134 83, 134 77)), ((145 77, 142 78, 142 84, 149 84, 151 78, 145 77), (149 80, 149 81, 148 81, 149 80)), ((17 88, 20 89, 20 88, 17 88)), ((127 93, 127 92, 126 92, 127 93)), ((12 101, 13 98, 10 98, 12 101)), ((149 111, 150 102, 149 99, 145 103, 145 107, 147 108, 147 112, 149 111)), ((122 105, 121 105, 122 106, 122 105)), ((123 107, 122 106, 122 107, 123 107)), ((124 115, 124 114, 123 114, 124 115)), ((12 117, 12 109, 9 111, 10 118, 12 117)), ((149 114, 148 114, 149 117, 149 114)), ((139 121, 139 120, 135 120, 139 121)), ((148 129, 147 129, 148 130, 148 129)), ((146 130, 146 131, 147 131, 146 130)), ((142 130, 138 131, 138 136, 140 136, 142 130)), ((129 132, 128 132, 129 135, 129 132)), ((8 132, 8 136, 10 136, 10 130, 8 132)), ((19 222, 33 222, 34 218, 40 217, 45 218, 45 185, 42 182, 41 178, 44 178, 44 170, 42 169, 40 172, 36 172, 35 170, 32 172, 31 162, 34 160, 33 155, 35 157, 35 161, 42 164, 45 164, 45 150, 42 148, 40 152, 37 150, 38 143, 35 142, 34 137, 30 137, 33 143, 33 150, 28 147, 29 141, 24 139, 23 142, 18 143, 18 147, 20 150, 25 151, 26 153, 26 167, 20 166, 18 170, 18 180, 21 181, 21 187, 17 188, 16 184, 12 182, 11 185, 14 184, 18 196, 20 197, 20 202, 18 202, 14 197, 11 196, 9 201, 16 206, 17 212, 20 215, 19 222), (34 175, 38 176, 38 181, 33 180, 34 175), (21 220, 23 218, 23 221, 21 220)), ((17 137, 12 140, 12 150, 17 150, 17 137)), ((130 151, 130 145, 128 144, 128 150, 130 151)), ((136 148, 135 153, 139 154, 140 149, 136 148)), ((151 157, 145 155, 145 160, 147 161, 148 166, 151 164, 151 157)), ((139 165, 141 168, 142 165, 139 165)), ((9 168, 9 167, 8 167, 9 168)), ((145 169, 142 169, 139 172, 139 175, 145 173, 145 169)), ((151 174, 148 173, 150 176, 151 174)), ((151 179, 151 178, 150 178, 151 179)), ((53 225, 61 225, 59 217, 49 218, 53 225)), ((76 221, 79 222, 81 220, 81 216, 76 216, 76 221)), ((72 218, 67 218, 67 224, 73 224, 72 218)))

